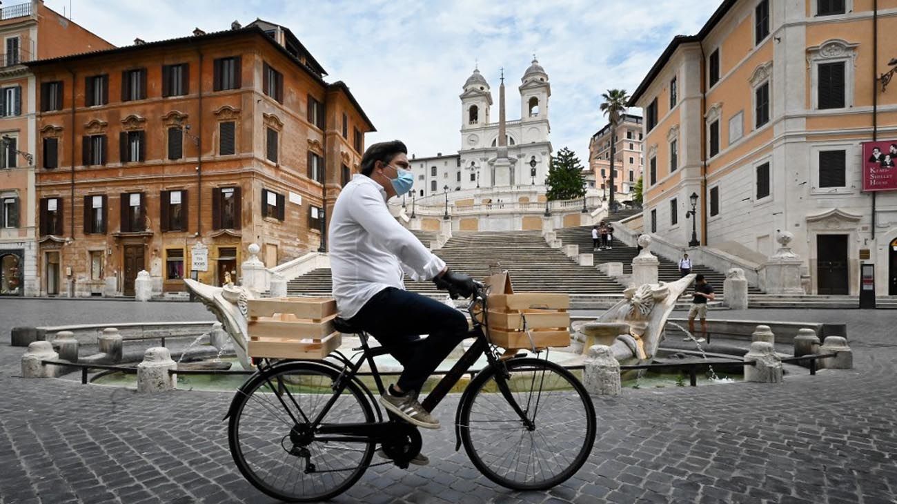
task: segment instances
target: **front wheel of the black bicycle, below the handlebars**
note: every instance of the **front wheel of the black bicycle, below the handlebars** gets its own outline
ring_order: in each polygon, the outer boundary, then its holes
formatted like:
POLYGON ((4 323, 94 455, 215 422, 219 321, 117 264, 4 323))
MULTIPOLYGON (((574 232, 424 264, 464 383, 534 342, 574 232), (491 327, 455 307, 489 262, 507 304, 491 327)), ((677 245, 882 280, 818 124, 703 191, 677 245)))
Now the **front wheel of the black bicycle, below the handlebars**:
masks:
POLYGON ((512 490, 545 490, 586 462, 595 442, 595 406, 570 371, 550 361, 505 363, 509 378, 489 368, 471 382, 459 405, 467 456, 487 478, 512 490), (499 381, 530 422, 501 393, 499 381))

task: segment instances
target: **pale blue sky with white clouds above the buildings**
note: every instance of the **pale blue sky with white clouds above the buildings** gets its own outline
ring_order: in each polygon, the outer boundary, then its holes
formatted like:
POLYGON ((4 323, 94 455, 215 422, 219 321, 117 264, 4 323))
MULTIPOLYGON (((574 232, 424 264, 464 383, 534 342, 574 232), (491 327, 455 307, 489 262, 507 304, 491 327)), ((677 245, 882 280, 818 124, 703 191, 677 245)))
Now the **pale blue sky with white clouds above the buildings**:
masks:
POLYGON ((478 62, 498 118, 500 68, 508 118, 533 53, 552 84, 552 144, 585 164, 611 88, 634 91, 677 34, 701 28, 720 0, 45 0, 117 46, 225 30, 257 17, 286 26, 329 76, 344 81, 377 126, 367 143, 400 138, 418 156, 461 146, 462 85, 478 62), (71 10, 69 5, 71 4, 71 10))

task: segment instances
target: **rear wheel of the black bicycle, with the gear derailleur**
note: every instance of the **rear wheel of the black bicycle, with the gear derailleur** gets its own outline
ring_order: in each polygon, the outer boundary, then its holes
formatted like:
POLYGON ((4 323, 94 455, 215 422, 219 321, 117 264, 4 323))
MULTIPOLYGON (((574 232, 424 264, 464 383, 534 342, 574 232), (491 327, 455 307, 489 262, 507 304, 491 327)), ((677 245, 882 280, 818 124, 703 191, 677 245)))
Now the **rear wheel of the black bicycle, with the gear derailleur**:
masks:
MULTIPOLYGON (((315 502, 348 490, 364 474, 373 442, 320 441, 309 429, 334 397, 338 376, 327 366, 290 362, 240 387, 231 404, 228 442, 239 472, 258 490, 280 500, 315 502)), ((322 423, 373 421, 370 403, 350 381, 322 423)))

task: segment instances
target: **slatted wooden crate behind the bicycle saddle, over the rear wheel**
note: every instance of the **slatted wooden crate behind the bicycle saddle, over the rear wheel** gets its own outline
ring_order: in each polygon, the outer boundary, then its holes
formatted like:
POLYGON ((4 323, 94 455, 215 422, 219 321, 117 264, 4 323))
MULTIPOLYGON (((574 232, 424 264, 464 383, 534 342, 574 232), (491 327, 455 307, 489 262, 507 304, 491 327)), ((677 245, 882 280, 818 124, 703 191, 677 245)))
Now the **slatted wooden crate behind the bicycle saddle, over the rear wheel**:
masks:
POLYGON ((249 357, 324 359, 343 343, 331 298, 248 300, 249 357))

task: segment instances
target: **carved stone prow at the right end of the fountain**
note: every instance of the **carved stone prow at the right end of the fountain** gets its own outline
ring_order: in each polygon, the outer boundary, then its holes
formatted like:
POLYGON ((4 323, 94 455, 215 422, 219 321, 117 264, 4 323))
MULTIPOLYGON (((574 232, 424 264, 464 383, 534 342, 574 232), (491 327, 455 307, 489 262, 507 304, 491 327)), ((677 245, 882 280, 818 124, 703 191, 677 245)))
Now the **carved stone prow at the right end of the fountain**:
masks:
MULTIPOLYGON (((656 261, 649 252, 651 240, 642 238, 648 237, 640 237, 642 250, 636 260, 656 261)), ((583 343, 582 352, 587 353, 593 344, 604 344, 621 364, 651 361, 663 338, 666 319, 695 276, 687 274, 675 282, 642 283, 627 288, 623 300, 596 321, 579 326, 576 338, 583 343)))

